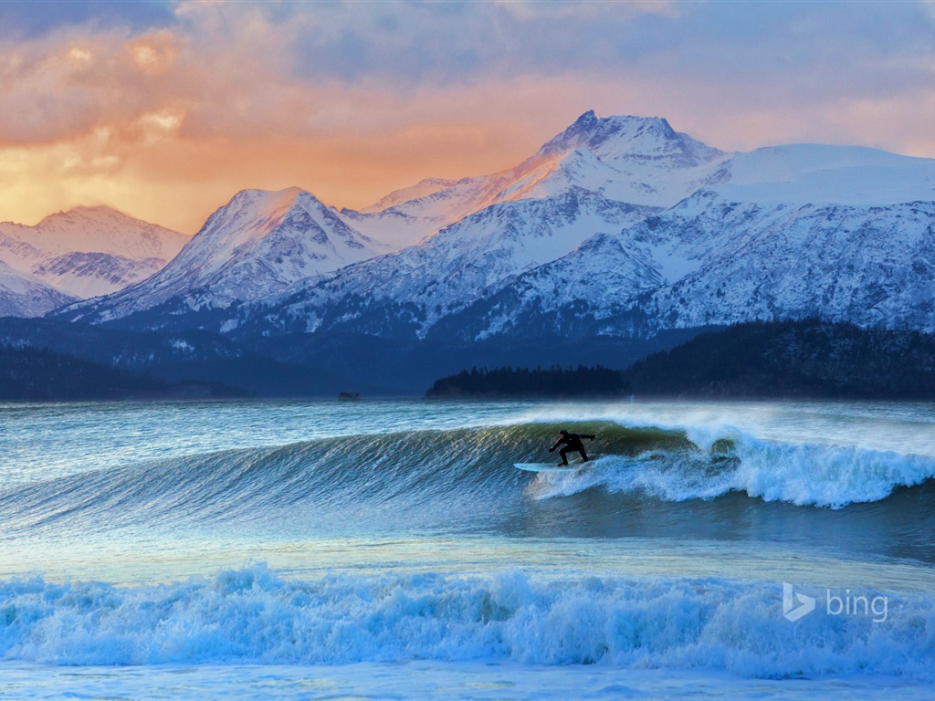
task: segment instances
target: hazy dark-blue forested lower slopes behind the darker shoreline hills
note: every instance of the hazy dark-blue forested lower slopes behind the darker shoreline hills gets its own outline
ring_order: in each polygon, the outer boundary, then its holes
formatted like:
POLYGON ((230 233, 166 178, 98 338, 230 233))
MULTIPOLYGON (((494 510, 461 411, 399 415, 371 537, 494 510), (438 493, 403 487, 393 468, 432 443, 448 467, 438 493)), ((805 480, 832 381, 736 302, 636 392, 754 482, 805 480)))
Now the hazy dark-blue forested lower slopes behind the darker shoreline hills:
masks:
POLYGON ((686 337, 688 332, 659 334, 649 341, 543 338, 517 344, 399 344, 366 335, 295 334, 238 341, 198 329, 130 331, 0 318, 0 346, 67 353, 167 382, 232 384, 257 396, 334 397, 349 388, 367 397, 422 395, 436 379, 466 365, 624 367, 686 337))

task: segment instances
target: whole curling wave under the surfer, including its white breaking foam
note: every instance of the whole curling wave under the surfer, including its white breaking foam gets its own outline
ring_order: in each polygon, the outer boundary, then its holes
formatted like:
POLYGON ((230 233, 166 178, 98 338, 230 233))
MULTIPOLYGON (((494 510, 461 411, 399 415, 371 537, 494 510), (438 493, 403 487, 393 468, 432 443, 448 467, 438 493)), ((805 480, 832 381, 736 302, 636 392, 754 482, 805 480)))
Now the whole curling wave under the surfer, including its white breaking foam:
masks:
POLYGON ((551 425, 335 437, 127 465, 9 488, 0 493, 0 513, 11 527, 29 528, 78 517, 111 524, 143 517, 250 521, 296 507, 489 511, 589 491, 640 502, 740 493, 842 508, 879 502, 935 477, 935 458, 891 451, 785 444, 736 432, 693 440, 684 431, 613 422, 566 425, 597 433, 586 446, 596 459, 578 473, 541 474, 525 493, 516 485, 528 477, 511 465, 557 462, 545 451, 555 438, 551 425))

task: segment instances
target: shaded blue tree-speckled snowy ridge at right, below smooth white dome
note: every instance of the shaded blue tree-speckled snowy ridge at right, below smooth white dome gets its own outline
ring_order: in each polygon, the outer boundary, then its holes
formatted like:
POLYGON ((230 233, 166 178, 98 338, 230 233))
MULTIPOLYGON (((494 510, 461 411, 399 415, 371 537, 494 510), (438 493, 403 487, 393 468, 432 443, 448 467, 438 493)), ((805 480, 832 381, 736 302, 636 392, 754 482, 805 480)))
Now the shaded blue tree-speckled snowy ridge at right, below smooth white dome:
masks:
POLYGON ((644 336, 806 317, 935 331, 935 202, 772 205, 702 191, 595 236, 447 326, 464 338, 644 336))

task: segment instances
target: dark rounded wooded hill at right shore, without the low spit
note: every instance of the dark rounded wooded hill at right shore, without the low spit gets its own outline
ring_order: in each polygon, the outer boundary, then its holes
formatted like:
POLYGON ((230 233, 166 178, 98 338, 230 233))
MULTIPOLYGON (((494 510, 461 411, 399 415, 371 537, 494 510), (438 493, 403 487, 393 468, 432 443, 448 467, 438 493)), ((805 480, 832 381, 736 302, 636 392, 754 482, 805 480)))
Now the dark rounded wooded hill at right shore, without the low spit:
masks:
POLYGON ((817 320, 741 323, 654 353, 624 381, 637 396, 935 399, 935 336, 817 320))

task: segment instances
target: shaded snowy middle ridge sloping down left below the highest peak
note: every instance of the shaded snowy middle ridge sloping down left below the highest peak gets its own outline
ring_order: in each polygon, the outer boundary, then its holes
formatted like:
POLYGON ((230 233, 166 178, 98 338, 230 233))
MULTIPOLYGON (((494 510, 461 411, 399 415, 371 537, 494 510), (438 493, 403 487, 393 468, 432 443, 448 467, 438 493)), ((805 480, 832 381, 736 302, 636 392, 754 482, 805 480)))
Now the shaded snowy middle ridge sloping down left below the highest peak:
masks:
POLYGON ((580 188, 545 199, 500 203, 419 246, 345 268, 244 313, 280 330, 295 330, 297 321, 304 332, 340 328, 396 334, 392 326, 424 336, 442 317, 516 275, 561 258, 596 234, 618 232, 652 211, 580 188))

